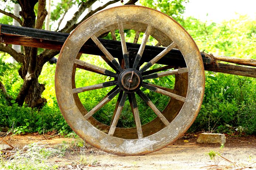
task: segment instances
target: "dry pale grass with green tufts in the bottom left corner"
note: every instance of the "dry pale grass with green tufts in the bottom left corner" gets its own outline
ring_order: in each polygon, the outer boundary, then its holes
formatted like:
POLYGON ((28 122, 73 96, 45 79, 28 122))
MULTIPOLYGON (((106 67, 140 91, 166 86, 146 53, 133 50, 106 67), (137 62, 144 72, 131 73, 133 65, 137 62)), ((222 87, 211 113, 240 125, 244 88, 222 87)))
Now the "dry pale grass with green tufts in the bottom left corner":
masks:
POLYGON ((40 143, 32 143, 22 149, 18 149, 16 146, 11 149, 0 148, 0 170, 54 170, 62 166, 66 168, 71 166, 76 166, 76 168, 77 166, 95 166, 99 162, 92 155, 93 152, 88 152, 91 147, 81 138, 75 136, 74 141, 62 141, 61 144, 42 145, 40 143), (68 159, 70 156, 77 157, 75 165, 72 163, 64 165, 63 163, 58 163, 59 160, 68 159))

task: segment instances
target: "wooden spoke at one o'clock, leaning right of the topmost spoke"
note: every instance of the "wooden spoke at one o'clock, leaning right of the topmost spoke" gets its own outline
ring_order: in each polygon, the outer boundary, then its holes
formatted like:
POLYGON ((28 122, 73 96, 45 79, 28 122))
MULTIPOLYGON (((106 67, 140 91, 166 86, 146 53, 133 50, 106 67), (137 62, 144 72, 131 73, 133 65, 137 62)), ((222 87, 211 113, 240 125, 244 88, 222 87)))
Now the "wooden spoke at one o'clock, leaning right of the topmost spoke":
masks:
POLYGON ((147 39, 149 39, 149 35, 150 35, 150 32, 151 32, 151 29, 152 29, 152 26, 147 26, 147 29, 146 29, 146 32, 144 33, 143 35, 143 38, 142 38, 142 42, 141 42, 141 45, 140 45, 140 48, 139 48, 139 51, 136 55, 136 58, 134 60, 134 63, 133 63, 133 68, 136 69, 137 66, 139 65, 140 63, 140 59, 141 59, 141 56, 142 56, 142 53, 145 49, 145 46, 146 46, 146 43, 147 43, 147 39))

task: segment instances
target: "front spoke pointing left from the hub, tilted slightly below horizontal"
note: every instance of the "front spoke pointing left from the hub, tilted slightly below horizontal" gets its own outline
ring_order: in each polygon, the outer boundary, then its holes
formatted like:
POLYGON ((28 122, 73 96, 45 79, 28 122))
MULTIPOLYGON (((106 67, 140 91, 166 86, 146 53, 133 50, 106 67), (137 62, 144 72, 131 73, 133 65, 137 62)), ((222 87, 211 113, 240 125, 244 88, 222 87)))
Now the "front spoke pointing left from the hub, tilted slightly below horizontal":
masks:
POLYGON ((81 92, 85 92, 85 91, 90 91, 90 90, 101 89, 101 88, 105 88, 105 87, 109 87, 109 86, 114 86, 114 85, 117 85, 117 84, 118 84, 117 81, 109 81, 109 82, 104 82, 104 83, 95 84, 95 85, 91 85, 91 86, 75 88, 75 89, 72 89, 72 92, 73 93, 81 93, 81 92))

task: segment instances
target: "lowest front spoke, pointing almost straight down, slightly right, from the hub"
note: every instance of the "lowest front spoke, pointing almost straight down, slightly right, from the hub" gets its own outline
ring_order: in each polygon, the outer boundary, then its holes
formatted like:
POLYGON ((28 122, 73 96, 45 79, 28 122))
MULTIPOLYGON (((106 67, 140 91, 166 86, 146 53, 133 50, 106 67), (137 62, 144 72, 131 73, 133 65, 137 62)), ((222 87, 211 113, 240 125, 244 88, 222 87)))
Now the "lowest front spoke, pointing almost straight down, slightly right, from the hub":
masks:
POLYGON ((140 116, 139 116, 139 110, 138 110, 135 94, 131 93, 131 97, 132 97, 132 105, 133 105, 132 109, 134 113, 134 121, 137 128, 137 134, 138 134, 138 138, 141 139, 143 138, 143 134, 142 134, 142 128, 140 124, 140 116))

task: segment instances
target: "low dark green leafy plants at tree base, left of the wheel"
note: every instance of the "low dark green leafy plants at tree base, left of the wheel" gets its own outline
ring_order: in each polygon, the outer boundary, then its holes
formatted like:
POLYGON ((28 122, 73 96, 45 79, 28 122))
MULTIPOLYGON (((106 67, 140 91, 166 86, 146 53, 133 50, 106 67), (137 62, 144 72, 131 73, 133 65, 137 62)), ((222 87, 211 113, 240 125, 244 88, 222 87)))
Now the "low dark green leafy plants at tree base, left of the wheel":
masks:
POLYGON ((66 124, 57 103, 54 107, 44 106, 41 110, 31 109, 26 106, 6 106, 7 103, 0 103, 0 124, 1 126, 13 127, 15 134, 25 134, 26 132, 57 131, 61 135, 71 132, 71 128, 66 124))

